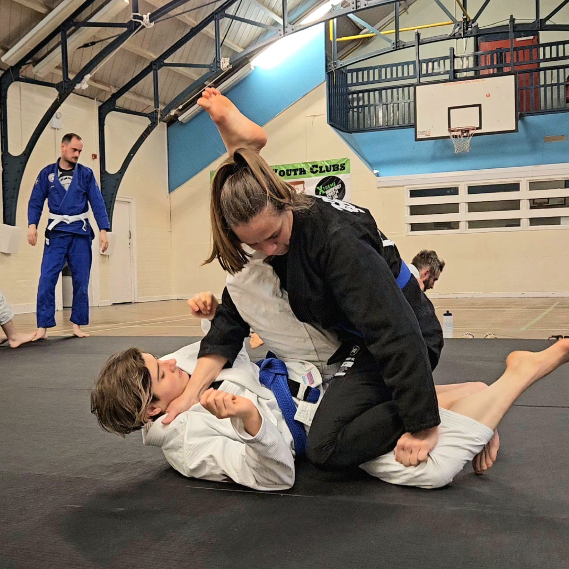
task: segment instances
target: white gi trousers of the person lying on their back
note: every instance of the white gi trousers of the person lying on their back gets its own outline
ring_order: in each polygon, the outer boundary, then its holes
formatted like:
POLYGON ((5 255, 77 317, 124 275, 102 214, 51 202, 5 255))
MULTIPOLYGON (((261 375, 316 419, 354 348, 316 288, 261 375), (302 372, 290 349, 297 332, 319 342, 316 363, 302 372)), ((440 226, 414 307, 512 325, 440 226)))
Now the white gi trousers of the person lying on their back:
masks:
MULTIPOLYGON (((273 267, 263 262, 262 255, 255 253, 243 270, 229 275, 226 286, 241 317, 258 333, 267 349, 287 362, 287 366, 291 360, 310 362, 318 368, 324 381, 327 372, 335 373, 328 369, 326 362, 339 347, 337 339, 296 318, 279 278, 273 267)), ((290 376, 299 381, 302 374, 290 376)), ((306 384, 304 376, 301 381, 306 384)), ((320 381, 321 378, 318 383, 320 381)), ((318 388, 324 390, 324 385, 318 388)), ((298 404, 298 399, 295 402, 298 404)), ((295 418, 308 427, 319 403, 302 401, 301 404, 295 418)), ((361 468, 390 484, 419 488, 449 484, 465 464, 483 450, 493 431, 464 415, 440 408, 439 413, 439 442, 418 467, 403 466, 391 451, 362 464, 361 468)))

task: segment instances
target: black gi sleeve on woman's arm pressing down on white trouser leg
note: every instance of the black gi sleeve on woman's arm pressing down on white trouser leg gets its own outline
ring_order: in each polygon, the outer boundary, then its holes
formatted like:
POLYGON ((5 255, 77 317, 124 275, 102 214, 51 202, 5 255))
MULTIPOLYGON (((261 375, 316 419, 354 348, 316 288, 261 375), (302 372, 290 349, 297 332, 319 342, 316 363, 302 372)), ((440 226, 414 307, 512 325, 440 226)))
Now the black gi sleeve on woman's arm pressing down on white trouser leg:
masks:
POLYGON ((437 426, 439 409, 427 348, 385 259, 365 234, 343 226, 328 235, 320 262, 336 302, 380 364, 406 431, 437 426))

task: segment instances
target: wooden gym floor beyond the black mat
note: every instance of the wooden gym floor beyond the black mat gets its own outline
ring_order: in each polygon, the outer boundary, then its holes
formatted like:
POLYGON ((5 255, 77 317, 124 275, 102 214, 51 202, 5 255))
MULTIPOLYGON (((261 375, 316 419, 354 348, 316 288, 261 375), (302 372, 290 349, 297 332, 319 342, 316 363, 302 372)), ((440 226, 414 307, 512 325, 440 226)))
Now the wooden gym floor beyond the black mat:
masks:
MULTIPOLYGON (((569 298, 433 299, 442 319, 450 310, 455 337, 472 332, 484 337, 547 339, 552 334, 569 336, 569 298)), ((50 336, 71 335, 65 308, 56 313, 57 327, 50 336)), ((189 314, 185 300, 115 304, 92 308, 91 323, 83 327, 93 336, 202 336, 200 323, 189 314)), ((14 324, 22 332, 35 329, 35 314, 17 314, 14 324)))

